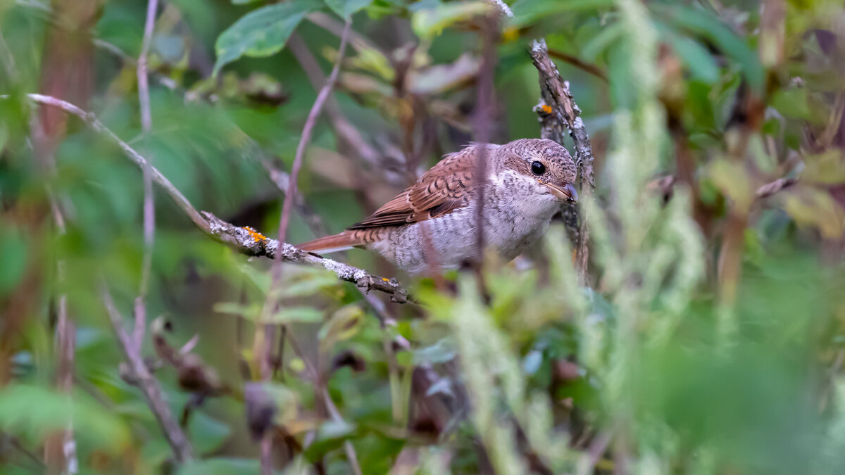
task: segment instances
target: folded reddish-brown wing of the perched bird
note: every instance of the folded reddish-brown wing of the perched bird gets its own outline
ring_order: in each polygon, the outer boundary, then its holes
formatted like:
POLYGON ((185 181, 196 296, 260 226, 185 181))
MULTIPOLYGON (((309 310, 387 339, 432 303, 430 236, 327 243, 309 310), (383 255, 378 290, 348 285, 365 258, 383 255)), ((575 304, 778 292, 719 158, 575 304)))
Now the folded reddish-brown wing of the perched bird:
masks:
MULTIPOLYGON (((448 215, 463 208, 469 203, 473 191, 472 176, 479 146, 472 145, 446 156, 425 172, 417 183, 349 229, 401 226, 448 215)), ((488 145, 488 157, 493 150, 493 146, 488 145)))

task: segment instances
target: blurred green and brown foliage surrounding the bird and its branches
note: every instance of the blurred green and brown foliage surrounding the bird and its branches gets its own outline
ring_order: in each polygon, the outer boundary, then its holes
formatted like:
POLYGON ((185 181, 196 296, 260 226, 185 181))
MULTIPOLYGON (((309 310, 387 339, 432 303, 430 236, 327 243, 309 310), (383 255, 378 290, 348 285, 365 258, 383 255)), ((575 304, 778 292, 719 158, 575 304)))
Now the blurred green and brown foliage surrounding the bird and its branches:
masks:
POLYGON ((151 3, 0 1, 0 472, 845 470, 842 2, 151 3), (542 37, 596 157, 588 266, 562 220, 478 275, 339 257, 417 303, 221 245, 26 96, 275 236, 342 54, 300 243, 539 136, 542 37))

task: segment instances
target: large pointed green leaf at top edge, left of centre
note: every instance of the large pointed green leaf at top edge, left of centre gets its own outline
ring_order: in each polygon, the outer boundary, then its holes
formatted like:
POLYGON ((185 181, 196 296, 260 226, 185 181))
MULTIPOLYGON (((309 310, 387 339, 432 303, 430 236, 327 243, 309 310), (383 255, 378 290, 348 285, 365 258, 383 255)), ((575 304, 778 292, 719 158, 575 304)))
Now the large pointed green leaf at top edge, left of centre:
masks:
POLYGON ((292 0, 244 15, 217 38, 214 74, 239 57, 268 57, 281 51, 305 15, 322 6, 317 0, 292 0))

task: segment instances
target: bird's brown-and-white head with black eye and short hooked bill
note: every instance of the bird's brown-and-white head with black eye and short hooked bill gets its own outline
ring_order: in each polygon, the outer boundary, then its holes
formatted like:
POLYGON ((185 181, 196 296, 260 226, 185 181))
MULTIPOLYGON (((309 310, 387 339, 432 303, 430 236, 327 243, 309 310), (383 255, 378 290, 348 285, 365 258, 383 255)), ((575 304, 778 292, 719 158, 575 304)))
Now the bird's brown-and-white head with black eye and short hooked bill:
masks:
POLYGON ((538 199, 577 203, 575 161, 557 142, 546 139, 520 139, 499 148, 497 172, 515 179, 522 193, 538 199))

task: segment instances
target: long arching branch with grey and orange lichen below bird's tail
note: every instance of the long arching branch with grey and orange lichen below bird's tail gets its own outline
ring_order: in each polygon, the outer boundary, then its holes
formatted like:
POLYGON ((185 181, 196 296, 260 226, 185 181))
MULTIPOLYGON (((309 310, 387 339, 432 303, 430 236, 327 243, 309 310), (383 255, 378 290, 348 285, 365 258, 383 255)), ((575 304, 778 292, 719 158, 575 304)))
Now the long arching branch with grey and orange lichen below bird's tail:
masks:
MULTIPOLYGON (((122 151, 123 155, 127 156, 130 161, 133 161, 138 167, 144 167, 146 160, 136 150, 130 147, 126 142, 119 139, 111 130, 106 128, 94 114, 85 112, 78 106, 62 101, 51 96, 42 96, 40 94, 28 94, 30 100, 39 104, 47 106, 54 106, 68 112, 76 117, 79 117, 97 133, 105 135, 108 139, 117 145, 122 151)), ((8 96, 0 96, 0 99, 6 99, 8 96)), ((279 248, 279 241, 275 239, 265 238, 259 232, 255 232, 251 228, 237 227, 231 223, 221 220, 213 214, 203 211, 200 213, 190 204, 187 198, 170 182, 164 175, 161 174, 155 167, 150 167, 153 182, 159 185, 165 193, 170 196, 173 202, 183 210, 183 213, 194 221, 194 224, 205 234, 212 238, 225 243, 226 245, 236 249, 237 251, 254 257, 268 257, 275 259, 276 251, 279 248)), ((282 243, 281 259, 284 259, 293 264, 311 265, 314 267, 322 267, 331 270, 342 281, 348 281, 356 284, 358 287, 366 289, 367 291, 377 290, 390 294, 390 300, 396 303, 413 302, 409 297, 408 291, 399 285, 395 279, 386 279, 380 276, 374 276, 368 271, 358 269, 352 265, 341 264, 332 259, 324 259, 316 254, 307 253, 301 249, 295 248, 291 244, 282 243)))

